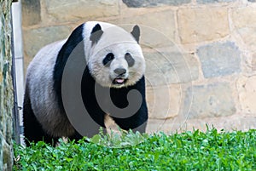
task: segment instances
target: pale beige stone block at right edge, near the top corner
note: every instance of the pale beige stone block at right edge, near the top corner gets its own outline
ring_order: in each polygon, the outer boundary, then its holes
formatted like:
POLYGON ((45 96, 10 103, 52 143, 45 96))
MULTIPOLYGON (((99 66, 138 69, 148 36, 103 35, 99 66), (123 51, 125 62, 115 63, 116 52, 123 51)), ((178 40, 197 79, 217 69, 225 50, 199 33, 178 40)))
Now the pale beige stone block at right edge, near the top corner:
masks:
POLYGON ((236 28, 256 27, 256 10, 251 6, 234 8, 231 13, 231 20, 236 28))

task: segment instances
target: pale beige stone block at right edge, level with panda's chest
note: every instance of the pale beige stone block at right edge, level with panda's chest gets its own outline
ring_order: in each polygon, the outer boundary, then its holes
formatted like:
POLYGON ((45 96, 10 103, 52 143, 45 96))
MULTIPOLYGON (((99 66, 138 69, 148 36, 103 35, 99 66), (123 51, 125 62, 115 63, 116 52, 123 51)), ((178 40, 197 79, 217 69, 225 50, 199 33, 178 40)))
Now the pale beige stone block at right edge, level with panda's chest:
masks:
POLYGON ((239 100, 243 113, 256 113, 256 77, 241 77, 237 81, 239 100))

